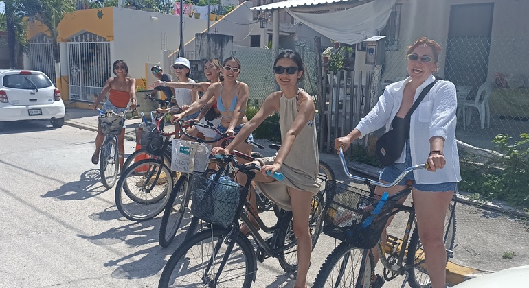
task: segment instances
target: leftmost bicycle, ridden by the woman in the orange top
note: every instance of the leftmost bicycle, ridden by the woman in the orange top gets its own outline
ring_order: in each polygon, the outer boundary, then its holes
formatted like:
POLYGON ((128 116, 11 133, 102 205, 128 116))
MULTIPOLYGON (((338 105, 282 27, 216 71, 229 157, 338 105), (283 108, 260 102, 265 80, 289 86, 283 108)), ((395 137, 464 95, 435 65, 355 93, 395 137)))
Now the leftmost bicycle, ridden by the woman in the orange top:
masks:
POLYGON ((99 173, 104 187, 111 189, 117 180, 120 170, 120 159, 117 151, 117 135, 123 130, 123 123, 126 113, 115 114, 112 111, 103 112, 100 108, 95 108, 99 113, 98 117, 101 132, 104 134, 103 145, 99 153, 99 173))

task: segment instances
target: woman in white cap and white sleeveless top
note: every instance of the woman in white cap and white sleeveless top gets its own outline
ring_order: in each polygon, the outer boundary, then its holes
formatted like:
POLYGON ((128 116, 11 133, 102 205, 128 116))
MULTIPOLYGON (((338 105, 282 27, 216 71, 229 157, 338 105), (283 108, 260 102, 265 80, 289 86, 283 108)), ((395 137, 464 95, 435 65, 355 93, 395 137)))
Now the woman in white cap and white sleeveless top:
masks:
MULTIPOLYGON (((172 69, 175 71, 175 75, 178 77, 179 82, 189 83, 189 84, 196 84, 196 82, 192 79, 190 79, 190 68, 189 68, 189 60, 183 57, 177 58, 175 61, 175 64, 171 65, 172 69)), ((167 82, 162 81, 161 86, 166 86, 167 82)), ((172 108, 181 108, 184 105, 191 105, 193 102, 199 100, 199 91, 196 90, 189 90, 186 88, 175 88, 175 100, 177 101, 177 104, 175 106, 172 106, 171 108, 167 109, 157 109, 158 112, 169 112, 172 108)), ((199 115, 199 112, 197 111, 194 114, 188 114, 184 118, 184 120, 194 119, 196 116, 199 115)))

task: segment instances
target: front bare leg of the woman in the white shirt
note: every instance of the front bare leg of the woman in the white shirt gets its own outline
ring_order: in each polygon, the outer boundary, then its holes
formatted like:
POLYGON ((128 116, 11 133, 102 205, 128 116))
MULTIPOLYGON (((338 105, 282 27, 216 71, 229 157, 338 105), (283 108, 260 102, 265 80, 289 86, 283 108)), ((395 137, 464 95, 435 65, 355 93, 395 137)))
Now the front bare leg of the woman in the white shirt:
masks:
POLYGON ((447 287, 447 251, 444 247, 444 216, 453 191, 429 192, 413 189, 415 213, 420 242, 425 249, 425 263, 431 287, 447 287))

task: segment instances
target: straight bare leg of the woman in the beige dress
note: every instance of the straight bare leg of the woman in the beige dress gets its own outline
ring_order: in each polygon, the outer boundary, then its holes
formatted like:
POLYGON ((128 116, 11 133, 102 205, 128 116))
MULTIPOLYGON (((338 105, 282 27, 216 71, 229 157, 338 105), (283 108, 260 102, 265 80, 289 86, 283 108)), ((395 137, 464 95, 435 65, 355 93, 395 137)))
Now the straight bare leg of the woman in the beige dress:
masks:
POLYGON ((289 188, 292 205, 294 235, 297 238, 297 277, 294 287, 306 287, 308 266, 311 263, 312 239, 308 228, 313 193, 289 188))

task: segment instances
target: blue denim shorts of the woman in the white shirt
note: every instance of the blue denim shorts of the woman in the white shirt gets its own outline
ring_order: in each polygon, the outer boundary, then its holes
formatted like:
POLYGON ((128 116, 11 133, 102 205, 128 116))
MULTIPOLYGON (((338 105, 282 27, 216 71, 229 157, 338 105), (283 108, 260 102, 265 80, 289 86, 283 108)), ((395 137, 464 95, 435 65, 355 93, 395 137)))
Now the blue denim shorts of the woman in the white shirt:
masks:
MULTIPOLYGON (((384 167, 383 171, 380 173, 380 180, 384 180, 386 182, 393 182, 399 175, 401 175, 402 171, 404 171, 407 167, 412 166, 412 152, 410 152, 409 149, 409 139, 406 139, 406 160, 404 163, 393 163, 390 166, 384 167)), ((438 183, 438 184, 417 184, 415 183, 414 173, 409 172, 407 176, 401 180, 401 182, 398 182, 397 185, 404 186, 407 182, 407 180, 413 180, 414 184, 412 187, 419 191, 434 191, 434 192, 448 192, 448 191, 455 191, 455 185, 456 182, 444 182, 444 183, 438 183)))

